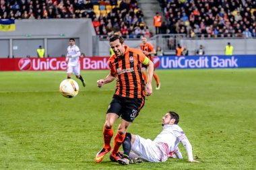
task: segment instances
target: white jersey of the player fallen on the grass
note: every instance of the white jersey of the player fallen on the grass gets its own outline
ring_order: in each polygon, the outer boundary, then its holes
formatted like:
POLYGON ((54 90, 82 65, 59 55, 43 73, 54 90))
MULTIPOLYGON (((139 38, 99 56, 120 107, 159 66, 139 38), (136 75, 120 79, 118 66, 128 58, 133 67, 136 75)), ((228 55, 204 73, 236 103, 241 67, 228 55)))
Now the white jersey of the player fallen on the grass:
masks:
POLYGON ((169 153, 174 152, 180 142, 183 143, 187 150, 189 161, 193 160, 192 146, 181 127, 177 124, 164 125, 162 132, 156 136, 153 142, 160 149, 161 161, 166 161, 169 153))

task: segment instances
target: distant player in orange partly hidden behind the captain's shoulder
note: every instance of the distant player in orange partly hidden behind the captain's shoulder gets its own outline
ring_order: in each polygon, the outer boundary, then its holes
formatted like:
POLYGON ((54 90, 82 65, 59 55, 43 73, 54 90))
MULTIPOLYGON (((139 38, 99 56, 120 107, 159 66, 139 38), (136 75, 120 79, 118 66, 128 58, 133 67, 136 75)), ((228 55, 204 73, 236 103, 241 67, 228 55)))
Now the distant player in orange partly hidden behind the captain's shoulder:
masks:
MULTIPOLYGON (((154 46, 152 44, 150 44, 147 40, 146 37, 142 37, 142 44, 140 44, 140 49, 143 51, 143 53, 148 56, 148 58, 150 58, 150 60, 153 60, 153 56, 154 54, 156 54, 156 50, 154 48, 154 46)), ((147 82, 147 74, 146 74, 146 70, 148 69, 148 67, 146 65, 142 64, 142 73, 143 73, 143 78, 144 80, 147 82)), ((155 68, 154 68, 154 73, 153 73, 154 79, 156 80, 156 90, 160 89, 160 81, 158 79, 158 75, 155 72, 155 68)))

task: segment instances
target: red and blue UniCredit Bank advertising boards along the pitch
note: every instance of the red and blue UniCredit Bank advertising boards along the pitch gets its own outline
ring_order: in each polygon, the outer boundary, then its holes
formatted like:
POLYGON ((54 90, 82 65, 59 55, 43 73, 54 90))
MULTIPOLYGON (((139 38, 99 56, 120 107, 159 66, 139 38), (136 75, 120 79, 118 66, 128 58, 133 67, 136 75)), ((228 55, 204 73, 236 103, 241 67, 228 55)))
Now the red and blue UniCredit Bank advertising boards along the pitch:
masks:
MULTIPOLYGON (((80 58, 82 70, 108 69, 108 56, 80 58)), ((256 67, 256 55, 156 56, 157 69, 221 69, 256 67)), ((65 58, 0 58, 0 71, 65 71, 65 58)))

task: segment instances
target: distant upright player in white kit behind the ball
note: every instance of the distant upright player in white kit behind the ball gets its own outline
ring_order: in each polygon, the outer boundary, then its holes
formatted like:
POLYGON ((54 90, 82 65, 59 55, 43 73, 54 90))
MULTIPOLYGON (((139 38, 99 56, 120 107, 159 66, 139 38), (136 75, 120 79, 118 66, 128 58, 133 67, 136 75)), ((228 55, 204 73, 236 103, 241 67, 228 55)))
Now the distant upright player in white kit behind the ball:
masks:
POLYGON ((66 63, 67 63, 67 79, 71 79, 72 73, 75 74, 77 79, 80 79, 83 83, 83 86, 86 87, 86 83, 80 75, 80 60, 79 56, 81 52, 78 46, 75 45, 75 39, 69 39, 69 46, 67 47, 67 56, 66 56, 66 63))

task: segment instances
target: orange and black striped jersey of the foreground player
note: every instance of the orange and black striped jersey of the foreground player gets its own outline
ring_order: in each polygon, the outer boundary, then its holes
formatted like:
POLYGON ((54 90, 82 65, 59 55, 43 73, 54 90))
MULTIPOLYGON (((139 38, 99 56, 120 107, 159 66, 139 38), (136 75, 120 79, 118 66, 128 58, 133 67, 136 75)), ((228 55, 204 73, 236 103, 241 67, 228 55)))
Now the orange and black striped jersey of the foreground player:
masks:
POLYGON ((118 57, 115 54, 108 59, 110 72, 117 75, 115 95, 129 98, 145 96, 145 85, 141 73, 141 63, 146 56, 139 49, 125 46, 125 54, 118 57))

